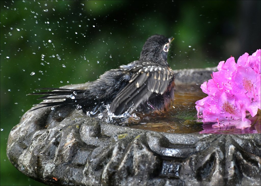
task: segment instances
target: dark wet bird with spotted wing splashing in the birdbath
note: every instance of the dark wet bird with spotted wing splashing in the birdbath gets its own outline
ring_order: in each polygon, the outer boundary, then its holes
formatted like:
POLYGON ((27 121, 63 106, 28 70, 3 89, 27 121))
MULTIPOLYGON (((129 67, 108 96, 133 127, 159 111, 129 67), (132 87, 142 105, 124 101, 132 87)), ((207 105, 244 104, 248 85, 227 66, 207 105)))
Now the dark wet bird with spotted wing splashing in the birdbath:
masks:
POLYGON ((173 39, 163 35, 149 37, 139 60, 106 71, 90 82, 86 90, 44 88, 56 91, 30 95, 45 95, 39 98, 44 100, 63 99, 37 104, 42 107, 72 105, 106 122, 132 113, 161 113, 174 99, 174 73, 167 62, 173 39))

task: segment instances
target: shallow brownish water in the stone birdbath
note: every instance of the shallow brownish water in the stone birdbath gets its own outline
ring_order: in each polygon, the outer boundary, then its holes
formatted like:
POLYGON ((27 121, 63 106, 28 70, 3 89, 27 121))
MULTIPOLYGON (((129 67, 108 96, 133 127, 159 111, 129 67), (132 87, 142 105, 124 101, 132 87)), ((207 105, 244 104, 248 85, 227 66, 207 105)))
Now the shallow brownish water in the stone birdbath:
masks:
POLYGON ((251 127, 244 130, 235 127, 212 128, 214 123, 204 123, 197 119, 195 102, 206 97, 200 85, 178 86, 175 91, 173 106, 167 113, 161 115, 143 115, 143 119, 131 122, 129 127, 168 133, 217 133, 217 134, 245 134, 260 133, 260 110, 255 117, 250 117, 251 127))

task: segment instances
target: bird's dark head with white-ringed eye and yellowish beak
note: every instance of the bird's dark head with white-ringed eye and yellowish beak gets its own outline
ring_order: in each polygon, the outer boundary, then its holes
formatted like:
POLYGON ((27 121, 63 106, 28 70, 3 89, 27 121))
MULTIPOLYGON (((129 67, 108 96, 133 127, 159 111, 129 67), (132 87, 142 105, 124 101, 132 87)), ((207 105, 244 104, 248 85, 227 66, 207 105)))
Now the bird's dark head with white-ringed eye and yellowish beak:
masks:
POLYGON ((140 61, 151 61, 161 65, 167 65, 170 43, 174 38, 166 38, 163 35, 153 35, 147 39, 140 53, 140 61))

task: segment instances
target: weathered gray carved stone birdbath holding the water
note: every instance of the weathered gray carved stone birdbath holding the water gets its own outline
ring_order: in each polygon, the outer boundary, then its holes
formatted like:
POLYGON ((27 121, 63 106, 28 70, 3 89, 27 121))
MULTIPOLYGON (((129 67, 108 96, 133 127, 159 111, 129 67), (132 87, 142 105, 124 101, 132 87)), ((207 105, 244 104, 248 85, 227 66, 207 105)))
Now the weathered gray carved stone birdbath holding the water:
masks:
MULTIPOLYGON (((196 71, 176 72, 176 84, 184 78, 201 84, 212 72, 196 71), (203 78, 197 82, 193 74, 203 78)), ((11 130, 7 156, 49 185, 260 185, 260 143, 260 134, 160 133, 115 126, 68 107, 41 108, 27 111, 11 130)))

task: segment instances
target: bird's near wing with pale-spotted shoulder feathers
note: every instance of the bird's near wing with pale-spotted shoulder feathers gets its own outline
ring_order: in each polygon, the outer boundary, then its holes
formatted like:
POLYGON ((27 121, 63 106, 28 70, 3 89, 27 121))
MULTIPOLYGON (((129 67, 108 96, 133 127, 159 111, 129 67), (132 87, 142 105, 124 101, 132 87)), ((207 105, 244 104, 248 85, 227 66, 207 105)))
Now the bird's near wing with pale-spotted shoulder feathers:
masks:
POLYGON ((173 71, 158 66, 147 66, 134 73, 129 83, 117 94, 110 104, 115 115, 123 114, 130 107, 135 110, 149 100, 153 93, 162 95, 172 81, 173 71))

